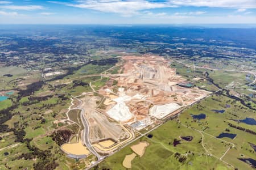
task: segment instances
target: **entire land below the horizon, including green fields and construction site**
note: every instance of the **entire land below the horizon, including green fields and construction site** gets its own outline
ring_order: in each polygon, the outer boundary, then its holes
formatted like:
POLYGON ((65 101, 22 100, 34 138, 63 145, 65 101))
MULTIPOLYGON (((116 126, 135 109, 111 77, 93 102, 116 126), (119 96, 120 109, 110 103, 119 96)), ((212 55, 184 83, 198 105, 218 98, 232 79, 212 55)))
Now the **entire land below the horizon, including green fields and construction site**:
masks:
POLYGON ((0 32, 0 169, 253 169, 253 36, 15 30, 0 32))

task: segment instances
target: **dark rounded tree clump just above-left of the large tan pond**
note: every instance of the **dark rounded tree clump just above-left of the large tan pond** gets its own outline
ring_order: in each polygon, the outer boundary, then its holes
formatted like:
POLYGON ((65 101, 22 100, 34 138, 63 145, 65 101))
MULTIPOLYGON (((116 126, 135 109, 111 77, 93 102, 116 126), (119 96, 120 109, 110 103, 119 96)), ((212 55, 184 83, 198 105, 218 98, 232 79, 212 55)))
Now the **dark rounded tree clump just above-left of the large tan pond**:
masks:
POLYGON ((51 137, 52 140, 57 143, 57 145, 61 146, 64 143, 67 143, 69 141, 69 138, 73 132, 71 130, 65 129, 65 130, 57 130, 54 133, 52 133, 51 137))

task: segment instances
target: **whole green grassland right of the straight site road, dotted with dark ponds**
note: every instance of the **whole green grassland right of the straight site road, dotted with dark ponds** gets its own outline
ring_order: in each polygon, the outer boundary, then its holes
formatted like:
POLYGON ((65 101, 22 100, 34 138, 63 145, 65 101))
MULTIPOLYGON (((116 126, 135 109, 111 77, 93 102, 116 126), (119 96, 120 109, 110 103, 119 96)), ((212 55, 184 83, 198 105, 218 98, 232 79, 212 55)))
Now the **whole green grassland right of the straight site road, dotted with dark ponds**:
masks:
MULTIPOLYGON (((177 120, 168 121, 160 128, 152 131, 150 133, 153 135, 151 139, 147 137, 139 139, 138 141, 147 141, 150 146, 146 148, 142 158, 135 157, 131 162, 131 169, 232 169, 228 164, 238 169, 251 169, 248 164, 237 158, 256 159, 253 149, 248 144, 248 142, 255 144, 256 137, 253 134, 230 127, 228 122, 231 121, 234 125, 256 131, 253 125, 238 124, 238 122, 230 120, 232 118, 242 119, 243 117, 255 118, 255 116, 254 111, 243 108, 238 101, 222 95, 210 96, 181 113, 177 120), (230 108, 224 108, 226 104, 229 104, 230 108), (225 112, 222 114, 211 111, 212 109, 223 108, 225 112), (199 113, 206 114, 206 118, 200 121, 193 120, 191 114, 199 113), (234 133, 237 136, 234 139, 216 138, 222 132, 234 133), (191 142, 179 138, 188 135, 193 137, 191 142), (172 145, 174 139, 181 140, 181 144, 174 147, 172 145), (228 149, 229 151, 224 155, 228 149), (187 160, 184 163, 178 162, 174 158, 175 152, 186 155, 187 160), (220 158, 227 164, 222 163, 220 158)), ((138 143, 138 141, 131 145, 138 143)), ((100 164, 100 168, 126 169, 123 167, 122 161, 125 155, 132 153, 131 145, 104 160, 100 164)))

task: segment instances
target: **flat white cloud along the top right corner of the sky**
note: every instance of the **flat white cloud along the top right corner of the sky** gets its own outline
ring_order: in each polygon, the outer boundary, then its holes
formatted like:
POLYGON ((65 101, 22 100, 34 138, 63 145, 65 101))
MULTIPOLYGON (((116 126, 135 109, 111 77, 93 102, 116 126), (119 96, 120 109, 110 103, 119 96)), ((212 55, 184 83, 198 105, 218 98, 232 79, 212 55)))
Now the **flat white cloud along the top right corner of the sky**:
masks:
POLYGON ((255 0, 169 0, 172 5, 222 8, 256 8, 255 0))

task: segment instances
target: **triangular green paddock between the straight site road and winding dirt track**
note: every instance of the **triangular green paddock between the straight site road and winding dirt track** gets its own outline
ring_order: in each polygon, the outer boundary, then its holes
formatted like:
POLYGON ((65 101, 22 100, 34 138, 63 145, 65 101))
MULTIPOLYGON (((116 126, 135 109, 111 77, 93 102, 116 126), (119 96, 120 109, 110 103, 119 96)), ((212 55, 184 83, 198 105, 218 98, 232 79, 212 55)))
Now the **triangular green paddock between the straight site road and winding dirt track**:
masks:
MULTIPOLYGON (((201 134, 195 130, 187 129, 177 124, 176 121, 168 121, 160 128, 152 131, 151 139, 143 137, 139 141, 147 141, 150 145, 146 148, 144 155, 140 158, 138 155, 131 162, 131 169, 229 169, 225 164, 216 158, 205 153, 204 148, 199 143, 201 134), (193 140, 187 142, 179 139, 180 136, 192 135, 193 140), (181 140, 181 144, 174 147, 174 139, 181 140), (186 155, 187 160, 180 163, 174 153, 186 155)), ((126 169, 122 162, 125 155, 133 151, 130 146, 137 144, 135 141, 131 145, 123 148, 113 156, 110 156, 100 164, 100 169, 126 169)))

